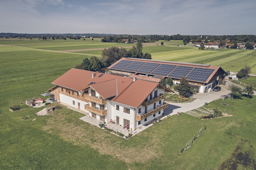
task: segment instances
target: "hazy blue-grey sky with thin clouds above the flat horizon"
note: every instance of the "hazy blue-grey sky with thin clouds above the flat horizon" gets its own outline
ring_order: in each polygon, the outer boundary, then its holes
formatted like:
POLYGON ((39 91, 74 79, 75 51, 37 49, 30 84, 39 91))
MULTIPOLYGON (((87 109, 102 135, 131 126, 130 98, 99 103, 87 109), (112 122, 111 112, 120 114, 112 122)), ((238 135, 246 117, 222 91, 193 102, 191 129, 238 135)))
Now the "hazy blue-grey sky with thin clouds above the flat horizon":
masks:
POLYGON ((0 0, 0 32, 256 35, 256 0, 0 0))

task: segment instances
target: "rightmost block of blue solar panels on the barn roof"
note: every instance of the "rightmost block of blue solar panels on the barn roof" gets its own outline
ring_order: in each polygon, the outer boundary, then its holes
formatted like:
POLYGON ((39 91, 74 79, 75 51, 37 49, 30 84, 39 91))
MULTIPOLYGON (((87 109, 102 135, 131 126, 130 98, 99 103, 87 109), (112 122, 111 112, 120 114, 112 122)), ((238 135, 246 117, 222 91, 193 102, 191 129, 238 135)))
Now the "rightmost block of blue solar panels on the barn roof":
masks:
POLYGON ((194 81, 206 81, 208 77, 212 74, 214 69, 206 69, 206 68, 197 68, 195 67, 186 77, 188 80, 194 81))

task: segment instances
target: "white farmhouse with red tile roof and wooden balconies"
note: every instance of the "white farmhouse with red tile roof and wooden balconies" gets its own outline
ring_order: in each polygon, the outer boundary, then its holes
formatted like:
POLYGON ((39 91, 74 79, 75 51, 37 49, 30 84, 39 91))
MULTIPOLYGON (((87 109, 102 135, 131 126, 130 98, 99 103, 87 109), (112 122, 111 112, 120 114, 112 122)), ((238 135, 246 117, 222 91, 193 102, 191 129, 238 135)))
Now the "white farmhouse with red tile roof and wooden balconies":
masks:
POLYGON ((136 129, 164 114, 164 93, 156 82, 71 69, 52 82, 47 92, 61 104, 104 122, 136 129))

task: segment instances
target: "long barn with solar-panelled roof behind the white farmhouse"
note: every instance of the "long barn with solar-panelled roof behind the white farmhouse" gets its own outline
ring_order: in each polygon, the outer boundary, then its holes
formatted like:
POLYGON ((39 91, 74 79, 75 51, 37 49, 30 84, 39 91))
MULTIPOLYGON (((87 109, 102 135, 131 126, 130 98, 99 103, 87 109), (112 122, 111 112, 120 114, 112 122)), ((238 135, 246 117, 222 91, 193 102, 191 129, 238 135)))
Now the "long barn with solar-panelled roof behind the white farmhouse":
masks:
POLYGON ((171 77, 180 83, 185 77, 197 92, 205 93, 209 88, 225 82, 226 72, 220 66, 192 64, 183 62, 156 61, 139 58, 121 58, 108 67, 110 74, 160 82, 171 77))

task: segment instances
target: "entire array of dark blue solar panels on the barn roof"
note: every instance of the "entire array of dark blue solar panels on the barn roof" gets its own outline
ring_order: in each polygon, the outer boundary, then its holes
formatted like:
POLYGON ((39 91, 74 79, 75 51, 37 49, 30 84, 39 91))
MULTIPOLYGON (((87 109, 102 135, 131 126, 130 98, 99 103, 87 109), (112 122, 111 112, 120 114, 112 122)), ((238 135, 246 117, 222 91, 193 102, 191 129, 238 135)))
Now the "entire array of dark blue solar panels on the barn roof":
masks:
POLYGON ((214 69, 207 68, 159 64, 153 62, 138 62, 131 60, 121 60, 120 62, 116 63, 115 66, 112 66, 112 69, 160 75, 172 78, 186 77, 188 80, 203 82, 205 82, 214 71, 214 69))

